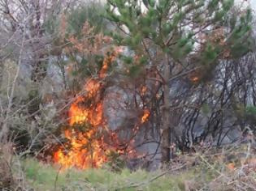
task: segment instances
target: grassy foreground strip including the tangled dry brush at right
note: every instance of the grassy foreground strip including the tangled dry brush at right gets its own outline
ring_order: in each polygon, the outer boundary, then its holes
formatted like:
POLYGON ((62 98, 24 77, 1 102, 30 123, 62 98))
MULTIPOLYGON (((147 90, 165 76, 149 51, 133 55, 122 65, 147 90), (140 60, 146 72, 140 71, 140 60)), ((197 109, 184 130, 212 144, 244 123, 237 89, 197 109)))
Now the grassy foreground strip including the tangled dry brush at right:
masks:
MULTIPOLYGON (((123 169, 111 171, 110 167, 101 169, 68 169, 59 172, 59 167, 38 162, 35 159, 17 159, 13 172, 26 183, 26 189, 46 190, 96 190, 96 191, 182 191, 182 190, 254 190, 256 188, 256 165, 241 166, 241 154, 245 148, 225 148, 195 155, 182 155, 181 165, 185 168, 163 174, 160 169, 146 172, 138 169, 131 172, 123 169), (236 168, 229 169, 227 164, 236 161, 236 168), (183 161, 183 162, 182 162, 183 161), (243 174, 241 174, 243 172, 243 174), (159 176, 163 175, 163 176, 159 176)), ((254 152, 250 157, 255 159, 254 152)), ((15 158, 16 159, 16 158, 15 158)), ((176 168, 175 164, 173 168, 176 168)))

